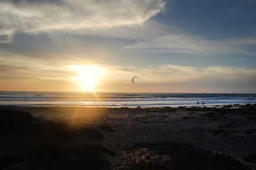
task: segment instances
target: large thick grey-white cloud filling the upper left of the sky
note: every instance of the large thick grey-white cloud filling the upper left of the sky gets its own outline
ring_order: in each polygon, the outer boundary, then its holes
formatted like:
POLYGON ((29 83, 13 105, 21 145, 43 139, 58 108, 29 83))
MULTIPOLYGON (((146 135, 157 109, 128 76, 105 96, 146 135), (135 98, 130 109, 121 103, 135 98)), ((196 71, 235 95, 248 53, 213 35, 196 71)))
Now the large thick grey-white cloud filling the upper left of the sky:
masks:
POLYGON ((165 7, 162 0, 0 1, 0 41, 16 32, 111 28, 142 24, 165 7))

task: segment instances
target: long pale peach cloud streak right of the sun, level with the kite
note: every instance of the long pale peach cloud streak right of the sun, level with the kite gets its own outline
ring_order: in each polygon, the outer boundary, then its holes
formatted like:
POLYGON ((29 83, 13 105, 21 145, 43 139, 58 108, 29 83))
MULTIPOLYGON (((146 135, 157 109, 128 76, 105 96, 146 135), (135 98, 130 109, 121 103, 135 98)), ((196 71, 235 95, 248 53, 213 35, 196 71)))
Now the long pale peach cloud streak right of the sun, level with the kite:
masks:
MULTIPOLYGON (((135 67, 110 67, 109 70, 116 75, 116 79, 129 79, 133 75, 140 75, 144 83, 179 82, 191 79, 250 79, 256 77, 255 69, 240 67, 187 67, 179 65, 163 65, 148 69, 136 69, 135 67), (123 77, 123 78, 122 78, 123 77)), ((112 77, 113 75, 111 75, 112 77)))

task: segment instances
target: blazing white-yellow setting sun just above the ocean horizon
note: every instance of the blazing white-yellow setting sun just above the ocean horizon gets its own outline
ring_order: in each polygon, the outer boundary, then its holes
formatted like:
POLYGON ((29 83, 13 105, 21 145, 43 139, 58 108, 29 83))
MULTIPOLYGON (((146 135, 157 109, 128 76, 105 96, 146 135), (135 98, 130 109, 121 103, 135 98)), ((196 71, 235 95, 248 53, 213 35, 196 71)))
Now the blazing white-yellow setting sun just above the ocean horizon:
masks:
POLYGON ((106 74, 106 69, 96 65, 73 65, 71 69, 77 72, 77 77, 73 77, 81 91, 95 92, 95 86, 100 83, 106 74))

